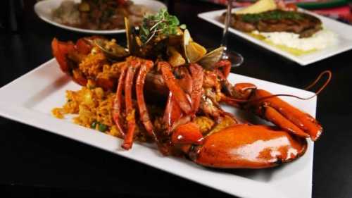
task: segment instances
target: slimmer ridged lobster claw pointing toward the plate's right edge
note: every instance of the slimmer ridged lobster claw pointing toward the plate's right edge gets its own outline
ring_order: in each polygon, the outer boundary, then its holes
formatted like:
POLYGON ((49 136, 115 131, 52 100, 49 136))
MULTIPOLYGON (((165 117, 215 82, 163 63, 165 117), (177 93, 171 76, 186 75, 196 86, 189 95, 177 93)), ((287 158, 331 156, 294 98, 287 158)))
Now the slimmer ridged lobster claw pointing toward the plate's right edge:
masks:
POLYGON ((318 140, 322 134, 322 126, 310 116, 279 97, 272 97, 270 92, 263 89, 253 89, 249 102, 244 109, 250 109, 258 116, 277 125, 282 130, 300 137, 310 137, 318 140))

